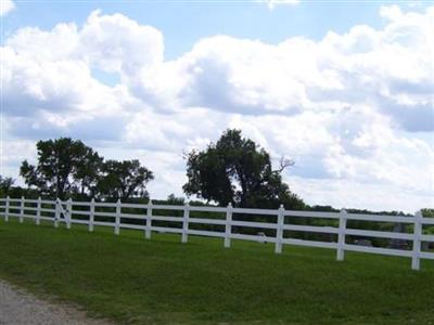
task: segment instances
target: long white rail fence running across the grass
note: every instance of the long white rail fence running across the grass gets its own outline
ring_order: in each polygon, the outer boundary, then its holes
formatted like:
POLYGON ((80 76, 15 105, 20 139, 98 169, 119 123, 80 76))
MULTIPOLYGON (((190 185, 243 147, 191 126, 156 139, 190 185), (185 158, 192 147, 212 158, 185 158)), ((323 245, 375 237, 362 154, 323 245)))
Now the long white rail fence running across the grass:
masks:
POLYGON ((345 251, 360 251, 408 257, 411 258, 411 269, 413 270, 420 270, 421 259, 434 259, 434 252, 422 251, 421 249, 422 242, 434 243, 434 235, 423 234, 423 226, 434 225, 434 218, 422 218, 420 211, 418 211, 413 217, 400 217, 347 213, 345 210, 341 210, 340 212, 293 211, 285 210, 283 206, 281 206, 279 209, 272 210, 233 208, 231 205, 228 205, 228 207, 189 206, 188 204, 184 206, 164 206, 153 205, 152 202, 150 202, 148 205, 140 205, 120 203, 120 200, 117 203, 97 203, 93 199, 91 202, 73 202, 71 199, 62 202, 60 199, 25 199, 24 197, 21 199, 15 199, 7 197, 0 198, 0 214, 3 214, 5 221, 9 221, 10 218, 18 218, 20 222, 23 222, 24 218, 28 218, 34 219, 36 224, 40 224, 41 220, 52 222, 55 227, 59 226, 60 222, 64 222, 67 229, 71 229, 73 223, 86 224, 88 225, 90 232, 93 231, 94 225, 111 226, 114 229, 115 234, 119 234, 120 229, 135 229, 143 231, 145 238, 151 238, 152 231, 178 233, 181 234, 182 243, 188 242, 189 235, 221 237, 225 239, 225 247, 230 247, 231 239, 257 240, 261 243, 268 242, 275 243, 275 250, 277 253, 282 252, 283 244, 332 248, 336 249, 336 259, 339 261, 344 260, 345 251), (101 211, 101 208, 104 208, 105 211, 101 211), (107 209, 112 209, 113 211, 106 211, 107 209), (130 211, 141 211, 141 213, 126 212, 125 209, 129 209, 130 211), (182 217, 155 214, 155 212, 162 210, 182 211, 182 217), (197 211, 203 214, 209 212, 214 212, 215 214, 219 213, 221 218, 209 219, 203 218, 202 216, 200 218, 193 218, 190 216, 190 212, 192 211, 197 211), (233 216, 237 213, 244 216, 268 216, 276 221, 240 221, 233 218, 233 216), (290 218, 301 217, 335 220, 336 226, 302 225, 286 222, 290 218), (106 219, 111 219, 112 221, 107 221, 106 219), (131 220, 136 220, 136 223, 126 222, 131 222, 131 220), (398 233, 350 229, 347 227, 347 220, 411 224, 413 225, 413 232, 398 233), (155 221, 157 221, 158 224, 155 224, 155 221), (166 222, 170 222, 170 224, 179 224, 179 227, 161 225, 161 223, 166 222), (221 229, 224 229, 224 231, 192 229, 193 224, 219 225, 221 229), (265 236, 264 234, 252 235, 233 232, 233 227, 237 226, 253 227, 257 230, 273 230, 276 232, 276 236, 265 236), (337 240, 320 242, 291 238, 284 236, 285 231, 333 234, 337 237, 337 240), (406 250, 347 244, 346 236, 409 240, 412 243, 412 249, 406 250))

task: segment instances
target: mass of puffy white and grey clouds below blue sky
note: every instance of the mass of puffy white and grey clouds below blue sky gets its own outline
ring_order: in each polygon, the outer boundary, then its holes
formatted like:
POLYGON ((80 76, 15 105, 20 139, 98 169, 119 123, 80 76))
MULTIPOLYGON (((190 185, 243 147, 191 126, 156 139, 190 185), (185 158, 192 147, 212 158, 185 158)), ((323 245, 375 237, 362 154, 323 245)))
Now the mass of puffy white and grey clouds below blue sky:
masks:
POLYGON ((171 61, 161 31, 120 14, 22 28, 2 48, 7 131, 26 143, 71 135, 111 158, 140 157, 161 196, 181 194, 183 151, 240 128, 275 159, 295 159, 285 178, 308 203, 430 206, 434 8, 380 15, 382 28, 320 41, 208 37, 171 61), (94 69, 119 81, 107 86, 94 69))

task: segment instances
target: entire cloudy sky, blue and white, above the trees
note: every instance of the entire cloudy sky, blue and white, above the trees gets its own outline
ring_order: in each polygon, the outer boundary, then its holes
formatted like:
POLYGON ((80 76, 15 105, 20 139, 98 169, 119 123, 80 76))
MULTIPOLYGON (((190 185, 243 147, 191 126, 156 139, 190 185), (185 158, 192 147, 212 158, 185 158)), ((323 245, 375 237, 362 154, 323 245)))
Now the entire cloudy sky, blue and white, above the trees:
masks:
POLYGON ((18 183, 36 141, 72 136, 181 195, 182 153, 239 128, 308 204, 434 207, 434 2, 0 1, 18 183))

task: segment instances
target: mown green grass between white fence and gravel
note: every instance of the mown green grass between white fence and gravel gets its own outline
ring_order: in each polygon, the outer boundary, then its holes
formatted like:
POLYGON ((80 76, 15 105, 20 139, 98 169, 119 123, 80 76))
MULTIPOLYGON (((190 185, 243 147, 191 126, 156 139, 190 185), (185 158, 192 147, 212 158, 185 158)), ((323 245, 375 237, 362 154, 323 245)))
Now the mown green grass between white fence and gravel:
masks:
POLYGON ((434 324, 434 264, 271 244, 0 221, 0 277, 135 324, 434 324))

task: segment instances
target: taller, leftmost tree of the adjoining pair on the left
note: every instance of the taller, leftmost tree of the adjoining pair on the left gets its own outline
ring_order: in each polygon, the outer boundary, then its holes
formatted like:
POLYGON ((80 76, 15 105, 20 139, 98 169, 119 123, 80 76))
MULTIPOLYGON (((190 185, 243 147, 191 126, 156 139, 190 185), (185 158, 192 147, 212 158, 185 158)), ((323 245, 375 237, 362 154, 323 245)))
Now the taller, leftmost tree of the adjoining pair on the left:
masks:
POLYGON ((102 158, 81 141, 71 138, 39 141, 38 162, 22 162, 20 174, 41 194, 64 199, 66 194, 92 191, 102 158))

